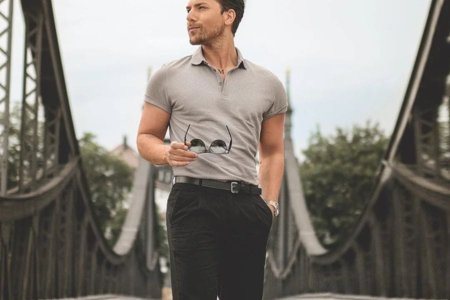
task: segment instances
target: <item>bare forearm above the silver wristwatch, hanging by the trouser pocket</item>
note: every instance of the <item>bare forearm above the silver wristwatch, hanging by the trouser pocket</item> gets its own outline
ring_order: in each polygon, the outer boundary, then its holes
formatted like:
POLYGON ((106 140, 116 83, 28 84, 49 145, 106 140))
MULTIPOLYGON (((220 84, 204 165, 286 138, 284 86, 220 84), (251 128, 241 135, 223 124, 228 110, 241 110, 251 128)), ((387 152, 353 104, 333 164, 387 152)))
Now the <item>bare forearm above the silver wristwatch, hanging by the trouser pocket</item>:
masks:
POLYGON ((268 201, 278 201, 278 193, 284 170, 284 153, 277 152, 259 157, 259 184, 261 197, 268 201))

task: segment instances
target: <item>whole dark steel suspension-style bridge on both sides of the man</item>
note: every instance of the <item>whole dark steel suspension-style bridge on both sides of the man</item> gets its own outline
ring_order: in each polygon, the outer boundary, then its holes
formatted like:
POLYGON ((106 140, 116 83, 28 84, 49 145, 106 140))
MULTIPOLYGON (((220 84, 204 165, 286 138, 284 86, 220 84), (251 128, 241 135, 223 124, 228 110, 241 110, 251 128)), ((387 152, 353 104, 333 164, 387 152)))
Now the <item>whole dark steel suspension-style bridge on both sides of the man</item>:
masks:
MULTIPOLYGON (((154 190, 170 190, 171 168, 140 158, 130 208, 109 246, 81 164, 51 0, 20 3, 23 95, 20 138, 11 141, 13 5, 0 0, 0 298, 161 298, 154 190)), ((439 142, 448 135, 437 120, 442 107, 450 111, 449 70, 450 1, 433 0, 376 184, 332 251, 311 224, 287 111, 282 211, 269 235, 264 300, 450 298, 450 146, 439 142)))

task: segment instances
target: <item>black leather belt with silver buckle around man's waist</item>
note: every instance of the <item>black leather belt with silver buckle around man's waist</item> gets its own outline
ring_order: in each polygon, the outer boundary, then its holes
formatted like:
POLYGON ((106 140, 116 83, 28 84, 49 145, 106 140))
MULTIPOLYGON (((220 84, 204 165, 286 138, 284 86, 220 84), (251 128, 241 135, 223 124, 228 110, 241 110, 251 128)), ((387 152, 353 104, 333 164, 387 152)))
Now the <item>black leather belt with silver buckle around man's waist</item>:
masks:
POLYGON ((254 184, 244 184, 237 181, 218 181, 213 179, 194 178, 189 176, 173 176, 172 185, 175 182, 185 182, 197 184, 200 186, 214 187, 219 189, 227 189, 232 193, 236 192, 250 192, 257 195, 261 194, 261 188, 254 184))

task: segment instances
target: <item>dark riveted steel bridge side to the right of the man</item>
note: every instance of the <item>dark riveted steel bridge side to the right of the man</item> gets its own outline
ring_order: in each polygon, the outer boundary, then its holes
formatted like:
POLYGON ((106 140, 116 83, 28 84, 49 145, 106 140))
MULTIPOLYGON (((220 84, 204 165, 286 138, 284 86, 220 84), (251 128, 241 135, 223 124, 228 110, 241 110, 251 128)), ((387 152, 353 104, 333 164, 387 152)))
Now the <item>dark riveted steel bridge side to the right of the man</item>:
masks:
POLYGON ((285 136, 284 209, 269 237, 264 299, 310 292, 450 298, 449 74, 450 2, 433 0, 372 196, 336 250, 325 251, 315 236, 285 136))

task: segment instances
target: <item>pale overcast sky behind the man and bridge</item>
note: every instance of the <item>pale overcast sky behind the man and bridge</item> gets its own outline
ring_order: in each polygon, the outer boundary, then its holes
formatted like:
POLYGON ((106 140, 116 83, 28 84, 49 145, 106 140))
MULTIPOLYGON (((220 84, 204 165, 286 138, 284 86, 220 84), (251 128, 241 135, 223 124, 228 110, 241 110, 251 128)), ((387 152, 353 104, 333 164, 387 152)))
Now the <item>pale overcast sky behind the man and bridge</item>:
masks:
MULTIPOLYGON (((187 0, 53 0, 70 109, 111 149, 136 148, 147 67, 190 55, 187 0)), ((234 38, 244 58, 285 82, 291 70, 295 153, 319 124, 325 134, 367 118, 390 134, 429 0, 246 0, 234 38)), ((23 19, 15 1, 13 99, 21 97, 23 19)))

